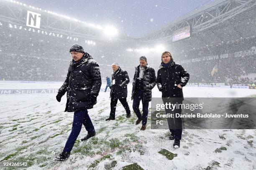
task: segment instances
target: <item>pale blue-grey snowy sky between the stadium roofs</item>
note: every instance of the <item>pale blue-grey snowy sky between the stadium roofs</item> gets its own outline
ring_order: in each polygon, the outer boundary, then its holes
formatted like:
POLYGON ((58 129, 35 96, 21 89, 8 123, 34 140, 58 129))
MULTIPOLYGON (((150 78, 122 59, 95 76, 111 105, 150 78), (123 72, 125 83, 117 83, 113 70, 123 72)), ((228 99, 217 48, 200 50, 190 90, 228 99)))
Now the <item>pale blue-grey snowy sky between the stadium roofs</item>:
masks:
POLYGON ((214 0, 20 0, 20 2, 140 37, 214 0))

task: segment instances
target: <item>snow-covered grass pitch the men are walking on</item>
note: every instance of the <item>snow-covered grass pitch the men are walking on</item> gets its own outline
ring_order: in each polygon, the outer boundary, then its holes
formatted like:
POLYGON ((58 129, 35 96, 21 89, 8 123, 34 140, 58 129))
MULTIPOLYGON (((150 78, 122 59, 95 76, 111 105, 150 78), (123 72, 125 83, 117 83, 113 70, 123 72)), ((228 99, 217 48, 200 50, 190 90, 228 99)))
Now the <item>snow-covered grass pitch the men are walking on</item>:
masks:
MULTIPOLYGON (((61 83, 0 83, 0 89, 60 86, 61 83)), ((255 96, 256 90, 184 87, 183 93, 184 97, 247 97, 255 96)), ((27 162, 31 170, 40 167, 119 170, 131 164, 144 170, 256 169, 256 130, 183 130, 180 148, 174 149, 173 140, 168 138, 169 130, 150 129, 150 113, 146 130, 140 131, 141 125, 135 125, 136 115, 132 112, 127 119, 118 101, 116 120, 105 121, 110 113, 110 98, 109 92, 102 91, 97 104, 89 110, 96 136, 81 142, 79 139, 87 135, 82 127, 69 159, 54 161, 67 141, 74 114, 64 112, 65 95, 60 103, 55 96, 54 93, 0 95, 1 162, 27 162)), ((153 97, 161 97, 156 87, 153 97)), ((132 110, 131 83, 127 100, 132 110)))

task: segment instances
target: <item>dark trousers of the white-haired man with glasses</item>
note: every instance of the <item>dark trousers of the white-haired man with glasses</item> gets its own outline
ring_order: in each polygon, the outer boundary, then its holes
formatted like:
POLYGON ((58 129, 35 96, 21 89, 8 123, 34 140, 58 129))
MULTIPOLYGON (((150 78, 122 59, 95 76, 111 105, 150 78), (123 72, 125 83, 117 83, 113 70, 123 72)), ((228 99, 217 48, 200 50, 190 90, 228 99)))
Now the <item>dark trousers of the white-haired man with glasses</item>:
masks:
POLYGON ((121 104, 125 108, 126 115, 131 115, 131 110, 130 110, 129 105, 126 101, 126 97, 125 98, 117 98, 117 97, 115 97, 115 95, 112 95, 111 101, 110 101, 110 109, 111 110, 110 110, 110 116, 109 117, 115 118, 115 108, 116 108, 116 104, 117 104, 118 100, 121 102, 121 104))

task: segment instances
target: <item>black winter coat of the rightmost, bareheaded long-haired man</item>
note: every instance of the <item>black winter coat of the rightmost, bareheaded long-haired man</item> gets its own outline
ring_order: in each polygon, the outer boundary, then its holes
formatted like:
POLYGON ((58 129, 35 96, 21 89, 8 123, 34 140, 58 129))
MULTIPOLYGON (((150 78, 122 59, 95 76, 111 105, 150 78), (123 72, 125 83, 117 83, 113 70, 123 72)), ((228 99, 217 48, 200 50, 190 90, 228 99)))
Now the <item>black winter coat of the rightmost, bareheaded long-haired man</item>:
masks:
POLYGON ((157 71, 156 84, 159 91, 162 92, 162 97, 181 97, 183 99, 182 89, 189 80, 189 73, 184 68, 173 62, 168 68, 159 66, 157 71))

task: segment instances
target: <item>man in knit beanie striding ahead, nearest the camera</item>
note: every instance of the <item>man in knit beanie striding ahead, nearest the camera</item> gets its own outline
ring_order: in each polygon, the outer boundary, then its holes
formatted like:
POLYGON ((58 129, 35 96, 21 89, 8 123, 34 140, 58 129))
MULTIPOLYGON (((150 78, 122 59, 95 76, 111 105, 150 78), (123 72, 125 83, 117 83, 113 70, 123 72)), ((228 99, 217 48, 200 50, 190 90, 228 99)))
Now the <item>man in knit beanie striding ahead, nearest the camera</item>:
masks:
POLYGON ((92 56, 84 52, 84 48, 78 44, 72 45, 69 52, 73 60, 70 62, 67 78, 59 88, 56 100, 60 102, 61 97, 67 92, 65 111, 74 112, 74 119, 63 152, 55 158, 58 161, 69 158, 82 125, 88 133, 81 140, 87 140, 96 134, 87 110, 97 103, 101 86, 100 67, 92 56))

